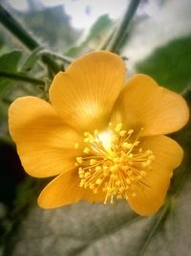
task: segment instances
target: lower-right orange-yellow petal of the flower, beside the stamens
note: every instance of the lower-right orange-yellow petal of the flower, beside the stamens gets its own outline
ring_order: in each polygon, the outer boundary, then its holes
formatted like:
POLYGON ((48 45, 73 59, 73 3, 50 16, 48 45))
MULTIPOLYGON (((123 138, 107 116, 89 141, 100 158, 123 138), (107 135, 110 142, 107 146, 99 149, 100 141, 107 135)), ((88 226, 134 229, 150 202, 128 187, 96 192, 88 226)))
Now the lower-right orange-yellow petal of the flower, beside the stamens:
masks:
POLYGON ((180 145, 166 136, 144 138, 141 147, 153 151, 153 170, 135 185, 136 197, 129 195, 129 203, 139 215, 155 214, 164 202, 173 170, 180 165, 183 151, 180 145))

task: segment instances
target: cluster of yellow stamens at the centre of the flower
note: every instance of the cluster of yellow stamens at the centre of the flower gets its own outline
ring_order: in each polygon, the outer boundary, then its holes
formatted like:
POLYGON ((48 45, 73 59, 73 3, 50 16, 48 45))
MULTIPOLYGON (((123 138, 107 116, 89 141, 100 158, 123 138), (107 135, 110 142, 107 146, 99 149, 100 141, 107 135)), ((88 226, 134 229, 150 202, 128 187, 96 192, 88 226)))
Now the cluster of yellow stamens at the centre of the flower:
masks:
POLYGON ((114 198, 136 197, 135 183, 148 186, 142 178, 152 169, 153 151, 143 151, 139 146, 139 135, 133 129, 124 130, 122 124, 113 127, 109 124, 106 132, 94 134, 84 133, 86 148, 84 156, 76 157, 79 186, 97 193, 101 189, 105 193, 106 203, 114 198))

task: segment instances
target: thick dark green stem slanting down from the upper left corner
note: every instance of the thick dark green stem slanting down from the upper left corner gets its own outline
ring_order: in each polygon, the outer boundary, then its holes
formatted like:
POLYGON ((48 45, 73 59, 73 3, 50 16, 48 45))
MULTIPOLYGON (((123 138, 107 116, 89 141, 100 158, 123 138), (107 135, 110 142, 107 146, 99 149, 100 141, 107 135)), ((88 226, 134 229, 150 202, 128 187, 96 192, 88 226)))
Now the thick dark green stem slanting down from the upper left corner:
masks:
MULTIPOLYGON (((0 4, 0 22, 29 50, 33 51, 36 48, 42 47, 2 4, 0 4)), ((50 56, 43 57, 42 61, 49 66, 53 73, 57 73, 60 70, 59 65, 50 56)))

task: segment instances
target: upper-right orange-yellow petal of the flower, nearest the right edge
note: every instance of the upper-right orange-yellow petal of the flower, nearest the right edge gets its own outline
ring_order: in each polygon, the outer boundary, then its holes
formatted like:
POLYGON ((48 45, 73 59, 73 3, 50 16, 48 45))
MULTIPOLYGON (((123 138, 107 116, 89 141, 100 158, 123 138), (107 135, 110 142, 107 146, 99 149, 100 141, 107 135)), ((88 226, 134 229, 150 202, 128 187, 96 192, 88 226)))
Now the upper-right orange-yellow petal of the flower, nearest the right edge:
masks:
POLYGON ((143 128, 142 136, 167 134, 182 128, 189 110, 180 96, 146 75, 132 78, 121 91, 113 120, 127 128, 143 128))

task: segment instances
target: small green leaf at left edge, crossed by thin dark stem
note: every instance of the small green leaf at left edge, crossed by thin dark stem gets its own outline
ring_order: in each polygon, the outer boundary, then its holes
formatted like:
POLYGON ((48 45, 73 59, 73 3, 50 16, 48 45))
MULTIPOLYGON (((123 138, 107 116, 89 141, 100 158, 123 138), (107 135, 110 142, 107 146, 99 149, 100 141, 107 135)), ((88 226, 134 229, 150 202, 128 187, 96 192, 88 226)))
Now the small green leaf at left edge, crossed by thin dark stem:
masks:
MULTIPOLYGON (((22 58, 22 53, 13 51, 9 54, 0 57, 0 71, 7 71, 15 73, 18 69, 19 62, 22 58)), ((15 81, 0 78, 0 98, 4 96, 6 91, 14 84, 15 81)))

